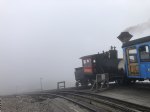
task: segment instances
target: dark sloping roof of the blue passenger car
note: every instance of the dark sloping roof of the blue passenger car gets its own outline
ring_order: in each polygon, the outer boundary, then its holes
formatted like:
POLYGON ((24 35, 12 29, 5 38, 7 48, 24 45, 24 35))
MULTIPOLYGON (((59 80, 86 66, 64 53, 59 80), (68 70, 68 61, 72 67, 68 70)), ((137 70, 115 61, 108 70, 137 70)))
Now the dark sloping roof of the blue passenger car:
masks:
POLYGON ((147 36, 147 37, 143 37, 143 38, 139 38, 136 40, 126 42, 122 45, 122 47, 128 47, 128 46, 132 46, 132 45, 136 45, 136 44, 140 44, 144 42, 149 42, 149 41, 150 41, 150 36, 147 36))

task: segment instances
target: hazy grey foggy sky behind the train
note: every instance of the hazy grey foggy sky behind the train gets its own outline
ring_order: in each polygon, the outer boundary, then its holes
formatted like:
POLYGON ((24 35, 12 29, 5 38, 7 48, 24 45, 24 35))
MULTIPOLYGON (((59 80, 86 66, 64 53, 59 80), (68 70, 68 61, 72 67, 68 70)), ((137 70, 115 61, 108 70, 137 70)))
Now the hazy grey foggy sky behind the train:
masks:
MULTIPOLYGON (((108 50, 150 19, 149 0, 0 0, 0 94, 73 85, 79 57, 108 50)), ((150 35, 138 33, 135 38, 150 35)))

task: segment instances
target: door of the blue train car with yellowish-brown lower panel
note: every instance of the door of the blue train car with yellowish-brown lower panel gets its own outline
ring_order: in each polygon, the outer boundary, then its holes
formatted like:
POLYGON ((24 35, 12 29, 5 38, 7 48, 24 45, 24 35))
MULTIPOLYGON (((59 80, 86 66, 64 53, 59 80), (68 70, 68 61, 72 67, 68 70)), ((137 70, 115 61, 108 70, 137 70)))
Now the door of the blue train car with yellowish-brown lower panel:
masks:
POLYGON ((139 63, 137 58, 136 47, 129 47, 126 49, 127 69, 129 77, 139 77, 139 63))

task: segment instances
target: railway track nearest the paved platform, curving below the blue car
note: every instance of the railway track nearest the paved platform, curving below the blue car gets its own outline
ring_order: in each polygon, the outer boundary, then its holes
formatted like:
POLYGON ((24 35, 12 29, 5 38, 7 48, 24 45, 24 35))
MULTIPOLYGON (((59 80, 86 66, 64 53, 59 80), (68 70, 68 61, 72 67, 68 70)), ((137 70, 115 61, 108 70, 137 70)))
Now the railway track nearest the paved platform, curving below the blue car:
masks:
MULTIPOLYGON (((65 95, 66 97, 75 98, 78 100, 84 100, 86 99, 87 102, 89 102, 91 105, 97 105, 97 104, 103 104, 107 107, 110 107, 112 109, 123 111, 123 112, 150 112, 149 107, 145 107, 142 105, 101 96, 95 93, 89 93, 89 92, 82 92, 82 91, 60 91, 59 94, 65 95)), ((97 105, 98 106, 98 105, 97 105)), ((101 105, 100 105, 101 106, 101 105)), ((103 108, 103 106, 102 106, 103 108)))

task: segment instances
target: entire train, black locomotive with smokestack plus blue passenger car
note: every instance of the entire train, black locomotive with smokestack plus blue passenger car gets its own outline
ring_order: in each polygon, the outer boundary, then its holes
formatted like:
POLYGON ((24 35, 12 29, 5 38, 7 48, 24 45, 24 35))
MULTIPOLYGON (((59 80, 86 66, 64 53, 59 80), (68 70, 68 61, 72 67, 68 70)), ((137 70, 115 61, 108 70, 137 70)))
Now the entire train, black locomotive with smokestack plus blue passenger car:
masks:
POLYGON ((123 58, 118 58, 115 47, 107 52, 83 56, 82 67, 75 68, 76 86, 93 84, 96 74, 109 74, 109 81, 130 84, 136 80, 150 80, 150 36, 130 41, 132 35, 122 32, 123 58))

